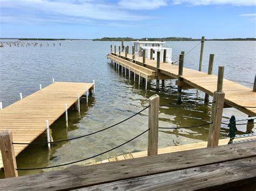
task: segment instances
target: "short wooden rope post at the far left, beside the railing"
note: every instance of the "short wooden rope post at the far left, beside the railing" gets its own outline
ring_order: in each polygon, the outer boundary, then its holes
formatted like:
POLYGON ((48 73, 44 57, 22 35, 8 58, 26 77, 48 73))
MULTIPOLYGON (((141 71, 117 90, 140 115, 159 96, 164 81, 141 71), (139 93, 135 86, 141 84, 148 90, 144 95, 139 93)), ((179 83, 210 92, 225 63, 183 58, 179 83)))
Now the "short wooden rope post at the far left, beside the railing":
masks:
POLYGON ((0 149, 2 153, 5 178, 18 176, 11 131, 4 130, 0 132, 0 149))

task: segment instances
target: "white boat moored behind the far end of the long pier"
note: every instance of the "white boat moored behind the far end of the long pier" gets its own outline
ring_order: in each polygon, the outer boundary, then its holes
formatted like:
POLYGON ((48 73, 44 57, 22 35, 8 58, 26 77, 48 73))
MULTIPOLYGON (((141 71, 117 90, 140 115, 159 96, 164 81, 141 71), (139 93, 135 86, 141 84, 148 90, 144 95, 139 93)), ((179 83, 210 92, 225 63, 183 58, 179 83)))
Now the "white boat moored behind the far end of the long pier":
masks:
POLYGON ((146 58, 150 58, 150 49, 153 48, 153 59, 157 60, 157 52, 160 51, 160 61, 164 60, 164 49, 166 49, 166 62, 178 63, 177 55, 172 56, 172 48, 161 41, 131 41, 135 47, 135 53, 139 55, 140 47, 146 50, 146 58))

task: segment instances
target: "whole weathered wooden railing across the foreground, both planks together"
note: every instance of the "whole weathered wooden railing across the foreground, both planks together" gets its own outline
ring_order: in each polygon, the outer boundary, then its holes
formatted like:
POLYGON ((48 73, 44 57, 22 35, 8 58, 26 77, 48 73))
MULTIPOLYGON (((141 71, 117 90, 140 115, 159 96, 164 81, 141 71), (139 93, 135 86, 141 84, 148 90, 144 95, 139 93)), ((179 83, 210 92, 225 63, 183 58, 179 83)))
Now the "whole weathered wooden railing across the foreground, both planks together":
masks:
POLYGON ((255 190, 256 142, 158 154, 0 180, 9 190, 255 190))

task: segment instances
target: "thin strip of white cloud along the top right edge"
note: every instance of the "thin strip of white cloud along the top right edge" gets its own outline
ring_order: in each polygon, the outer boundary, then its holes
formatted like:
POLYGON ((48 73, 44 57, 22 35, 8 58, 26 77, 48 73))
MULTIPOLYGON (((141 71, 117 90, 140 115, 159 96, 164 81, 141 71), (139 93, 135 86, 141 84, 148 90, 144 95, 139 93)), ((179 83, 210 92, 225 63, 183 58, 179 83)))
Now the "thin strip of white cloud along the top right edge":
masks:
POLYGON ((173 4, 191 4, 191 5, 235 5, 235 6, 253 6, 256 5, 255 0, 173 0, 173 4))

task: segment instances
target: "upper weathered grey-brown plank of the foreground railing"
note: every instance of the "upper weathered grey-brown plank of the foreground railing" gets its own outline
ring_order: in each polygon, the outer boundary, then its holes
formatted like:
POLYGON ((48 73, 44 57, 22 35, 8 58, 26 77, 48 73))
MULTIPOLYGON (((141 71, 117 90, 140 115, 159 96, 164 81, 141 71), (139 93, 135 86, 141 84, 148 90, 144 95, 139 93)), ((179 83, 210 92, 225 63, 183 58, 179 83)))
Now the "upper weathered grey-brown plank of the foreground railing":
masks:
POLYGON ((62 171, 45 172, 0 180, 1 189, 57 190, 75 189, 132 179, 140 176, 178 171, 220 162, 256 157, 256 142, 238 143, 198 150, 152 155, 138 159, 72 166, 62 171))

